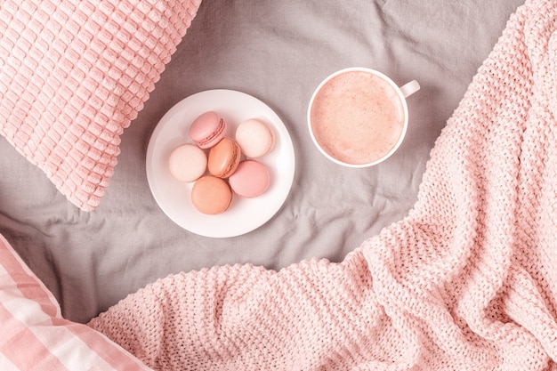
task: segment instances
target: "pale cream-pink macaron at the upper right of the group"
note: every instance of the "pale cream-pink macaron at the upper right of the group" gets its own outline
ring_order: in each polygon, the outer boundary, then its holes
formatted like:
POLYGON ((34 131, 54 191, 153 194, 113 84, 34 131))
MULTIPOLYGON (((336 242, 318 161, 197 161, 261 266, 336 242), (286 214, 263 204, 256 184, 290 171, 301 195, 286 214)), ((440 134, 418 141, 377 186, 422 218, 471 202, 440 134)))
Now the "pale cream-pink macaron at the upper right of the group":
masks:
POLYGON ((241 122, 236 129, 236 141, 246 157, 262 157, 270 152, 275 136, 269 125, 257 118, 241 122))

